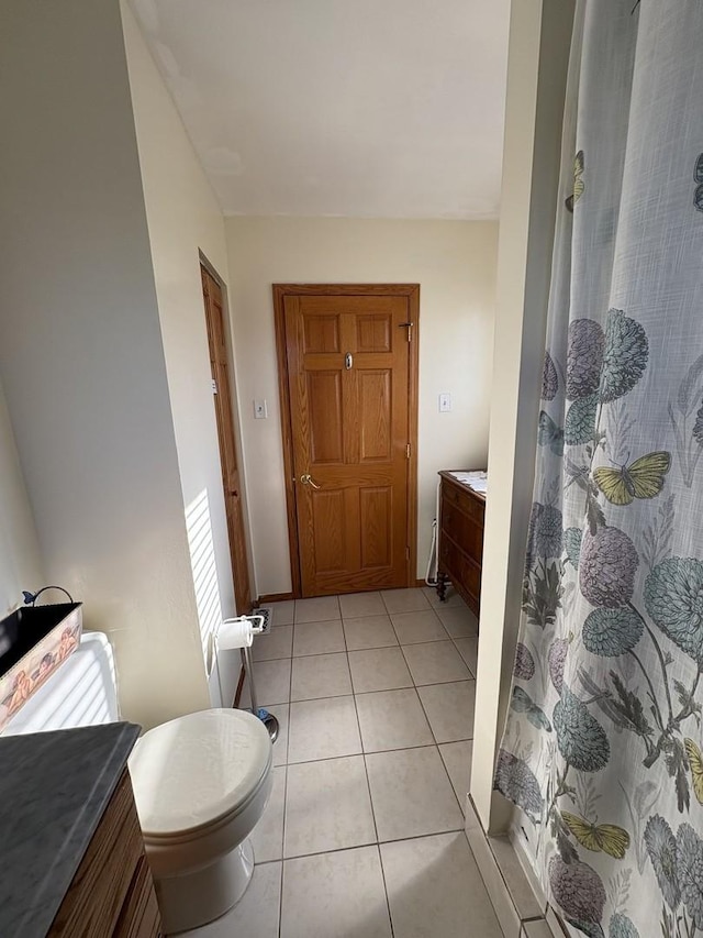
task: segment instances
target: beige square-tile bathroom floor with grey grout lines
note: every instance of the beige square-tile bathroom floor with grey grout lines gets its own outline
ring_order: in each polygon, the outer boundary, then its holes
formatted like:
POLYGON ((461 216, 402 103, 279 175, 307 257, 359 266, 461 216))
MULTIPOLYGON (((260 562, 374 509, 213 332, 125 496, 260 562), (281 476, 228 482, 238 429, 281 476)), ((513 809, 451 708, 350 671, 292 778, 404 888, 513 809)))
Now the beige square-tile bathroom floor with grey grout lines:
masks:
POLYGON ((279 718, 242 902, 198 938, 500 938, 464 834, 477 621, 394 589, 279 603, 256 639, 279 718))

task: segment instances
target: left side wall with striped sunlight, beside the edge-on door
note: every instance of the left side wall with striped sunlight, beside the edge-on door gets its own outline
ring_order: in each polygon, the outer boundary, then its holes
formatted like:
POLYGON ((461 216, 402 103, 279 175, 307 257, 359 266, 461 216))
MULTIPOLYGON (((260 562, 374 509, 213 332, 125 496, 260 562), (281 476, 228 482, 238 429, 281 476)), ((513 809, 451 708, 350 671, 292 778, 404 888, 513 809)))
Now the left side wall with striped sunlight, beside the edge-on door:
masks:
MULTIPOLYGON (((180 484, 207 647, 223 616, 235 615, 198 253, 202 251, 228 280, 224 220, 134 14, 124 0, 121 5, 180 484)), ((230 699, 233 695, 234 689, 230 699)))

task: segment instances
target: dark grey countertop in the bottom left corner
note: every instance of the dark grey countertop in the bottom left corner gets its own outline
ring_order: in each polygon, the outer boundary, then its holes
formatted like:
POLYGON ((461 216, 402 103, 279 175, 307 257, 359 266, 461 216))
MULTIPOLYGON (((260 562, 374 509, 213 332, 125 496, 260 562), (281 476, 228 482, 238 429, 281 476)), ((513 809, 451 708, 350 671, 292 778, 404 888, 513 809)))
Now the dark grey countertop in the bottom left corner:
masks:
POLYGON ((0 737, 0 936, 44 938, 140 727, 0 737))

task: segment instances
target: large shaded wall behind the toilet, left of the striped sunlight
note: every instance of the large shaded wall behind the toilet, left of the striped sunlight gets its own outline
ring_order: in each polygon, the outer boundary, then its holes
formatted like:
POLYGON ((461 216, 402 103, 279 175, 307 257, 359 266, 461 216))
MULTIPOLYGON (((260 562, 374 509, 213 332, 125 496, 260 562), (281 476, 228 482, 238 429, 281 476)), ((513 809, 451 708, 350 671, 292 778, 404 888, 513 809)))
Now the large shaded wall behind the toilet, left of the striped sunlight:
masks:
POLYGON ((47 578, 123 714, 208 706, 116 0, 5 0, 0 372, 47 578))

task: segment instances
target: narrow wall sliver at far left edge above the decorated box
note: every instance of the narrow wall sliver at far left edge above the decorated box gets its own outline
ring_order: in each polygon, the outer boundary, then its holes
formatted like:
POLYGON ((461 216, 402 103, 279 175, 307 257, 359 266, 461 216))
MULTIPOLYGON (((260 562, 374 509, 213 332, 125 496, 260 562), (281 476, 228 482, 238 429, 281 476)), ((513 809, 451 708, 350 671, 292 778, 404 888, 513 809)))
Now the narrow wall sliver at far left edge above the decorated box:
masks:
POLYGON ((46 586, 32 508, 0 386, 0 617, 22 605, 23 589, 46 586))

